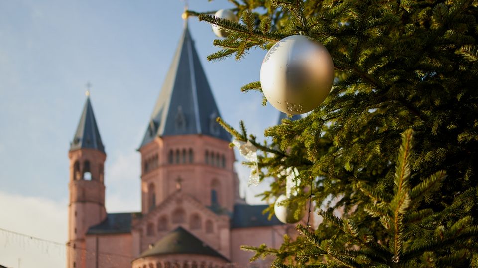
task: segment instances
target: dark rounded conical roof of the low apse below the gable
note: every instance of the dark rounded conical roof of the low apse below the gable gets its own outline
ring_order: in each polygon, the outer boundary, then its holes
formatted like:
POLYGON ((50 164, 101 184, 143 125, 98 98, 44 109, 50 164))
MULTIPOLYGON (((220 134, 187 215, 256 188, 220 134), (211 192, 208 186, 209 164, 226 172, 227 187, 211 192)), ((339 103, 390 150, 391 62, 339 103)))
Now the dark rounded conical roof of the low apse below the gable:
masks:
POLYGON ((139 258, 147 256, 156 256, 162 254, 198 254, 219 257, 229 261, 219 252, 206 245, 193 234, 185 230, 183 227, 178 227, 176 230, 168 233, 154 246, 139 256, 139 258))

